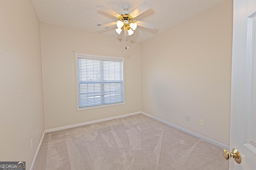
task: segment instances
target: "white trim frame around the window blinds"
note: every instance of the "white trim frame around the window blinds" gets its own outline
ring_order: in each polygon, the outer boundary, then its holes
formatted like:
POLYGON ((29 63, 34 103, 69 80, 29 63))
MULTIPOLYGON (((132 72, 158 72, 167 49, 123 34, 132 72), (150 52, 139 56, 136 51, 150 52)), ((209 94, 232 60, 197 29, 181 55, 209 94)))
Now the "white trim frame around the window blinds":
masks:
POLYGON ((82 54, 82 53, 75 53, 76 56, 76 108, 77 111, 80 110, 87 110, 87 109, 95 109, 100 107, 109 107, 109 106, 117 106, 117 105, 123 105, 125 104, 125 78, 124 78, 124 58, 121 57, 109 57, 109 56, 101 56, 101 55, 89 55, 89 54, 82 54), (108 59, 108 61, 116 61, 120 60, 123 62, 123 102, 120 103, 113 103, 113 104, 101 104, 96 106, 87 106, 87 107, 79 107, 79 83, 78 83, 78 58, 86 58, 86 59, 108 59))

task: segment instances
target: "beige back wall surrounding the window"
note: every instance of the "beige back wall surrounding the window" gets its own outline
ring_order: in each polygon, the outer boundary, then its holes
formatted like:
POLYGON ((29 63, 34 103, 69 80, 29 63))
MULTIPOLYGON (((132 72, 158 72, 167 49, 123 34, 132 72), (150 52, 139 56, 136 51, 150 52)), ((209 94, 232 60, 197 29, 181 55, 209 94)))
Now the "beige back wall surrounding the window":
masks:
POLYGON ((141 111, 140 43, 41 23, 45 128, 141 111), (76 110, 75 53, 125 57, 125 105, 76 110), (115 109, 116 113, 112 113, 115 109))

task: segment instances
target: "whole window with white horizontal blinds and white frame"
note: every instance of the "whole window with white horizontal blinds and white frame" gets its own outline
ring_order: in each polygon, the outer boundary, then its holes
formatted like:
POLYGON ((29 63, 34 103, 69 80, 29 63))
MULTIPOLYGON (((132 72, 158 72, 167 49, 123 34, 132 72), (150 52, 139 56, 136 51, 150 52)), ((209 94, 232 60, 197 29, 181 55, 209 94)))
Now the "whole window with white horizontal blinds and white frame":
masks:
POLYGON ((124 104, 123 58, 76 53, 77 109, 124 104))

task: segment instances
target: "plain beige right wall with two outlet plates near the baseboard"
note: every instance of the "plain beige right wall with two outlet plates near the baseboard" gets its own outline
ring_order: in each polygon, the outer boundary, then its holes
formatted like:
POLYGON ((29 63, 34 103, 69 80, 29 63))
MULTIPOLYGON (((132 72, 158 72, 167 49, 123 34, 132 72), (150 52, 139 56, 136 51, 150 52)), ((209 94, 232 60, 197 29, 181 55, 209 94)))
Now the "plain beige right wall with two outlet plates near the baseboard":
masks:
POLYGON ((232 9, 228 0, 141 45, 142 111, 227 146, 232 9))

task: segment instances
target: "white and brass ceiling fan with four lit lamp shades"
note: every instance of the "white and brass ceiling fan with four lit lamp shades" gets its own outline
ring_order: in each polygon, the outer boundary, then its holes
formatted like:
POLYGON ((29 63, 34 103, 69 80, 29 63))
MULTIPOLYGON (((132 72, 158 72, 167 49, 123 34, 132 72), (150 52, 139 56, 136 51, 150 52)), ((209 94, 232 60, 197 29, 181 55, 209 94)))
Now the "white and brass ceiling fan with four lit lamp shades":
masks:
POLYGON ((103 4, 98 4, 96 7, 100 8, 101 10, 104 10, 105 12, 108 12, 112 16, 115 16, 118 18, 118 21, 114 21, 112 23, 107 23, 104 25, 98 24, 97 27, 106 28, 106 27, 110 27, 112 25, 116 25, 117 26, 116 32, 118 34, 120 34, 122 32, 122 30, 124 30, 124 36, 126 36, 126 37, 129 35, 132 35, 134 33, 134 30, 137 28, 137 25, 141 26, 141 27, 150 28, 150 29, 156 28, 155 24, 134 20, 134 18, 136 18, 143 12, 149 10, 150 8, 152 8, 151 4, 147 1, 143 2, 133 12, 128 11, 129 7, 130 7, 129 4, 124 4, 123 5, 124 11, 122 11, 120 14, 114 12, 110 8, 104 6, 103 4))

